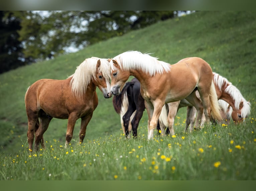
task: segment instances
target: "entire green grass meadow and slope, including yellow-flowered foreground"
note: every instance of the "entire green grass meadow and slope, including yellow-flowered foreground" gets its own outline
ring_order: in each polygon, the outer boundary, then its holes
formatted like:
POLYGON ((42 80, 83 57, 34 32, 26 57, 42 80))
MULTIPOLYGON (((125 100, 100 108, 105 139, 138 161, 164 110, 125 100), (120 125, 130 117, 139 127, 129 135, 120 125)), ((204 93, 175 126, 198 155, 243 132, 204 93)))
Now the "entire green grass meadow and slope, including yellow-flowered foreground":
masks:
POLYGON ((256 12, 196 12, 77 53, 1 74, 0 180, 112 180, 115 175, 118 180, 255 180, 255 30, 256 12), (81 120, 76 123, 70 147, 65 149, 60 145, 65 144, 67 120, 52 119, 44 133, 46 149, 28 152, 24 105, 27 88, 42 78, 66 79, 86 58, 112 58, 128 50, 154 53, 152 56, 170 64, 191 56, 203 58, 251 102, 251 115, 245 124, 238 126, 233 123, 209 126, 184 134, 186 108, 181 108, 175 119, 176 137, 155 137, 148 142, 145 111, 138 128, 139 137, 126 140, 121 135, 120 117, 113 108, 112 98, 105 99, 97 89, 99 105, 82 145, 77 145, 81 120), (171 160, 165 161, 161 155, 171 160), (221 164, 215 167, 218 161, 221 164))

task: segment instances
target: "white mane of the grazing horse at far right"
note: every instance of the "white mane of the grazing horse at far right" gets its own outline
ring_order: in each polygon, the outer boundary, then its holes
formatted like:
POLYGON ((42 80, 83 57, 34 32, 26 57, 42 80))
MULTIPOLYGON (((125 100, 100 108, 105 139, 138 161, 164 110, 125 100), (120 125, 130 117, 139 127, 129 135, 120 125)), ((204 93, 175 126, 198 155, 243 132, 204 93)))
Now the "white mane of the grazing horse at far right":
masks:
POLYGON ((219 87, 220 90, 222 90, 222 86, 224 83, 226 83, 227 87, 225 89, 225 92, 229 94, 235 101, 235 107, 237 110, 239 110, 239 104, 241 101, 243 101, 243 108, 241 109, 241 116, 242 118, 248 117, 251 113, 251 103, 246 101, 246 99, 243 97, 241 92, 232 85, 231 82, 229 82, 226 78, 220 76, 219 74, 213 72, 214 74, 214 83, 219 87))

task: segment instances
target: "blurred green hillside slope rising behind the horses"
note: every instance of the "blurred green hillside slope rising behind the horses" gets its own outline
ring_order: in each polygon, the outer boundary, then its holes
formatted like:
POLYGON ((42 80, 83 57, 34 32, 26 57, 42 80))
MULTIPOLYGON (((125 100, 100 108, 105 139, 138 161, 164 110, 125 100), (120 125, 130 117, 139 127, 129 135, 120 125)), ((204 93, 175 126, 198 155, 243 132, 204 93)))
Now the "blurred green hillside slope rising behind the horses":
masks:
MULTIPOLYGON (((112 58, 128 50, 154 53, 159 60, 174 64, 182 58, 197 56, 206 60, 214 72, 226 77, 251 101, 255 117, 256 12, 196 12, 159 22, 89 46, 77 53, 59 56, 0 75, 0 152, 14 153, 26 142, 27 118, 24 95, 27 88, 42 78, 66 79, 86 58, 112 58)), ((182 75, 182 74, 181 74, 182 75)), ((105 99, 97 89, 99 105, 90 121, 85 142, 122 133, 120 118, 112 98, 105 99)), ((185 108, 178 112, 175 131, 183 131, 185 108), (180 121, 179 121, 180 120, 180 121), (180 124, 180 125, 179 125, 180 124)), ((147 134, 147 113, 139 125, 139 135, 147 134)), ((44 133, 45 140, 65 142, 67 120, 53 119, 44 133)), ((78 141, 80 120, 73 141, 78 141)))

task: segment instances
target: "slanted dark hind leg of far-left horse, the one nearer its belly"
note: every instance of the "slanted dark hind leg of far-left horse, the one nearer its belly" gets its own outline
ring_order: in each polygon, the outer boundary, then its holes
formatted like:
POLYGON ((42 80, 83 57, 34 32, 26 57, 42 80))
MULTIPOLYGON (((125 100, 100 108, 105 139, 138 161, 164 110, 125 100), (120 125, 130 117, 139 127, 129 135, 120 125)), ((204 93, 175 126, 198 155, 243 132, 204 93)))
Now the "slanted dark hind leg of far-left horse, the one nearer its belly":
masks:
POLYGON ((39 119, 40 119, 40 125, 38 129, 35 131, 35 150, 36 151, 39 150, 39 144, 41 143, 42 145, 43 133, 47 130, 52 117, 43 113, 43 115, 41 115, 39 119))

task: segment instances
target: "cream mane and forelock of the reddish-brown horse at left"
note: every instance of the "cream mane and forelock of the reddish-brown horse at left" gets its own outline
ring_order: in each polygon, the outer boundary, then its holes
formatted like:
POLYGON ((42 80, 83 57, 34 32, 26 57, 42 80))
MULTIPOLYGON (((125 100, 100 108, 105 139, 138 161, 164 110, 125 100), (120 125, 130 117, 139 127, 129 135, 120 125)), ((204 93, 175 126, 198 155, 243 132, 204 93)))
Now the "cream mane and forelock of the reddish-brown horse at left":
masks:
MULTIPOLYGON (((100 58, 91 57, 85 59, 76 69, 75 73, 71 77, 70 86, 72 94, 76 97, 82 96, 86 90, 87 86, 90 84, 91 79, 96 80, 96 66, 100 58)), ((100 59, 100 72, 102 72, 103 77, 109 81, 110 79, 110 66, 107 59, 100 59)))

